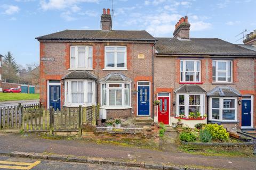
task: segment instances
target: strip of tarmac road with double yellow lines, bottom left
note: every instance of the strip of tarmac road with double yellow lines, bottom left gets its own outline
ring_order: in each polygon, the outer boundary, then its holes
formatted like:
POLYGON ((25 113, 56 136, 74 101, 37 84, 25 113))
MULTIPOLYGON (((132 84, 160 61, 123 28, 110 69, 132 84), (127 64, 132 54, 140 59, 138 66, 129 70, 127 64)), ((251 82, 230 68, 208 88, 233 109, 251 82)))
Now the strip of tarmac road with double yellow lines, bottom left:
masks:
POLYGON ((0 156, 0 169, 102 169, 102 170, 135 170, 142 169, 136 167, 98 165, 98 164, 82 164, 82 163, 67 163, 49 160, 35 160, 28 158, 16 158, 0 156))

